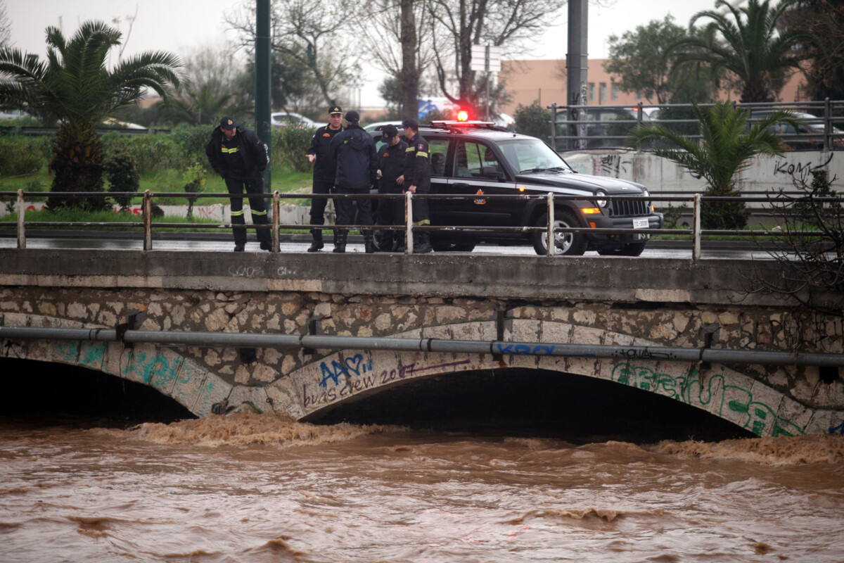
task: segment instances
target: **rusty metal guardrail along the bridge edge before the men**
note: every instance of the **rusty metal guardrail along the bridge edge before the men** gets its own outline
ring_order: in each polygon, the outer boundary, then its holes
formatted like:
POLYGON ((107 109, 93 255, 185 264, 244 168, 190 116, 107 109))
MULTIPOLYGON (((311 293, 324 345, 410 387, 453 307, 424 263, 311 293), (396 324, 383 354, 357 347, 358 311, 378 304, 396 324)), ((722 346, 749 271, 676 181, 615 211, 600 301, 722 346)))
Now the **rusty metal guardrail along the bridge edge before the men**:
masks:
MULTIPOLYGON (((120 227, 120 228, 143 228, 143 250, 150 251, 153 249, 152 233, 154 229, 270 229, 272 230, 272 248, 271 252, 280 252, 279 233, 280 230, 403 230, 405 240, 405 252, 412 254, 414 252, 414 230, 424 231, 480 231, 480 232, 503 232, 503 233, 544 233, 547 241, 547 256, 555 256, 555 234, 557 233, 576 233, 587 231, 589 233, 598 235, 691 235, 692 237, 692 260, 698 261, 701 259, 701 237, 706 235, 733 235, 733 236, 770 236, 770 237, 785 237, 791 235, 787 232, 778 230, 703 230, 701 229, 701 206, 706 202, 744 202, 744 203, 770 203, 771 196, 766 197, 720 197, 720 196, 704 196, 700 193, 695 193, 690 196, 659 196, 658 194, 651 194, 648 197, 644 196, 609 196, 601 195, 599 198, 584 197, 582 195, 566 196, 554 194, 549 192, 546 195, 532 195, 532 194, 484 194, 484 199, 513 199, 513 200, 539 200, 544 199, 546 203, 548 222, 544 226, 521 226, 521 227, 489 227, 489 226, 468 226, 468 225, 414 225, 413 224, 413 203, 415 199, 474 199, 478 198, 476 194, 414 194, 406 192, 404 194, 316 194, 316 193, 285 193, 281 194, 278 191, 272 194, 233 194, 233 193, 203 193, 203 198, 227 198, 227 199, 244 199, 244 198, 270 198, 273 203, 272 223, 268 225, 234 225, 230 223, 154 223, 153 222, 153 198, 196 198, 195 194, 178 194, 173 192, 150 192, 146 190, 143 192, 143 224, 138 223, 117 223, 117 222, 58 222, 58 221, 26 221, 26 209, 24 205, 25 196, 43 197, 44 192, 0 192, 0 198, 17 197, 18 203, 18 217, 17 222, 0 221, 0 227, 6 225, 17 226, 18 248, 26 248, 26 226, 43 228, 43 227, 120 227), (397 199, 403 198, 405 204, 405 224, 404 225, 281 225, 279 222, 280 206, 282 199, 339 199, 339 198, 367 198, 367 199, 397 199), (609 201, 660 201, 660 202, 692 202, 692 226, 690 229, 603 229, 592 227, 555 227, 555 202, 560 201, 582 201, 587 200, 609 200, 609 201)), ((779 195, 779 194, 776 194, 779 195)), ((138 197, 137 192, 51 192, 51 198, 112 198, 112 197, 138 197)), ((814 201, 819 203, 844 203, 844 198, 814 198, 814 201)), ((596 203, 597 204, 597 203, 596 203)), ((823 231, 801 231, 804 236, 823 236, 823 231)))

